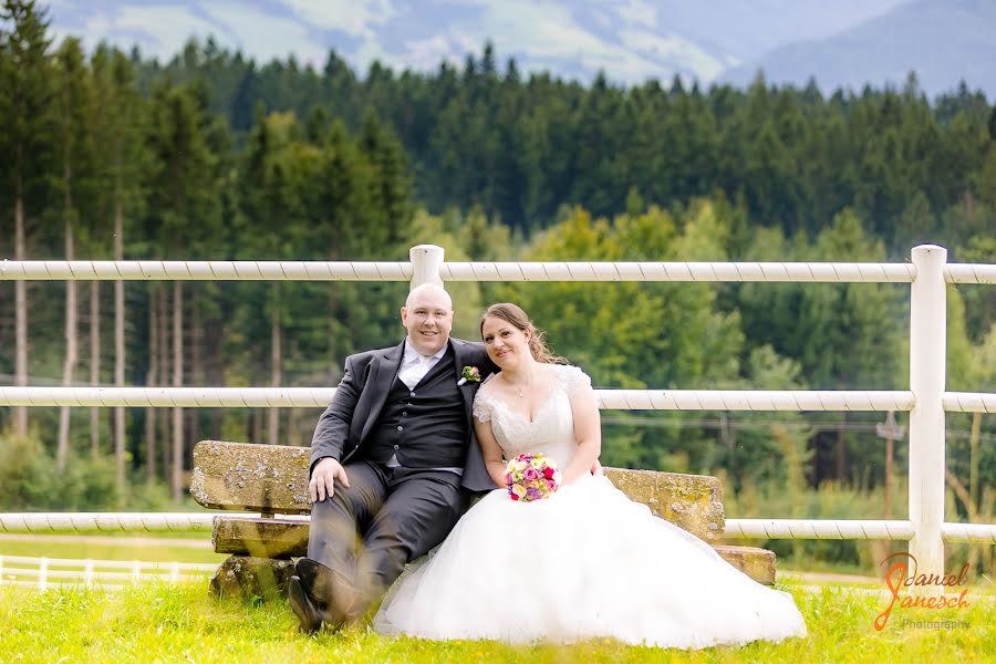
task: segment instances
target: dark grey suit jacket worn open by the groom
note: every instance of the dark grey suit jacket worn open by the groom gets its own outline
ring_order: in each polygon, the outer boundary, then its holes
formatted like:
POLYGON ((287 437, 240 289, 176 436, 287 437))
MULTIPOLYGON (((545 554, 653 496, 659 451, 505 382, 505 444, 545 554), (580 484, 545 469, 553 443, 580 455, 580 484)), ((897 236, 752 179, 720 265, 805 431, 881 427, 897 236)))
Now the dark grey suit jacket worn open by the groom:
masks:
MULTIPOLYGON (((497 371, 488 359, 484 344, 449 339, 454 351, 454 381, 459 381, 465 366, 476 366, 484 381, 497 371)), ((364 444, 371 429, 387 401, 387 392, 397 376, 397 369, 404 357, 405 343, 376 351, 366 351, 350 355, 345 361, 345 370, 339 390, 332 403, 322 413, 314 436, 311 439, 311 467, 324 457, 332 457, 345 463, 364 444)), ((464 397, 464 411, 467 416, 467 454, 464 460, 461 485, 471 491, 486 491, 495 488, 488 475, 470 422, 474 395, 480 383, 467 381, 460 386, 464 397)))

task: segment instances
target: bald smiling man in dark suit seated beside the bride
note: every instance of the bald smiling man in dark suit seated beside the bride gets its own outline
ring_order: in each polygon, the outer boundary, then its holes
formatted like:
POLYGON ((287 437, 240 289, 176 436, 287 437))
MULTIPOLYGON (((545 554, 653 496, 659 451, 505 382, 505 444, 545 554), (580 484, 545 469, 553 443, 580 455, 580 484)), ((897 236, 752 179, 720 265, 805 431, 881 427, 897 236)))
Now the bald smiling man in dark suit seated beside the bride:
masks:
POLYGON ((469 491, 495 488, 470 424, 480 383, 461 374, 483 380, 497 367, 480 343, 450 339, 442 287, 414 288, 401 315, 400 345, 346 357, 314 430, 308 557, 287 585, 304 632, 361 618, 405 563, 443 541, 469 491))

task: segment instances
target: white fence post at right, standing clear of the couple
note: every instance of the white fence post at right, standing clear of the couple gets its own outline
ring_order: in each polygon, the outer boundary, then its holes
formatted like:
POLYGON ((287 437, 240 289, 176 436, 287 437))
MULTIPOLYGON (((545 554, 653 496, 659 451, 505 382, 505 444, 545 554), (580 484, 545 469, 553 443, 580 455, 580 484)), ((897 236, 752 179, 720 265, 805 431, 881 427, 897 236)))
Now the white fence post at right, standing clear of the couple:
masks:
MULTIPOLYGON (((947 250, 936 245, 913 248, 910 295, 910 553, 917 574, 944 574, 944 407, 947 357, 947 250)), ((911 566, 912 573, 912 566, 911 566)), ((914 587, 917 594, 937 594, 940 585, 914 587)))

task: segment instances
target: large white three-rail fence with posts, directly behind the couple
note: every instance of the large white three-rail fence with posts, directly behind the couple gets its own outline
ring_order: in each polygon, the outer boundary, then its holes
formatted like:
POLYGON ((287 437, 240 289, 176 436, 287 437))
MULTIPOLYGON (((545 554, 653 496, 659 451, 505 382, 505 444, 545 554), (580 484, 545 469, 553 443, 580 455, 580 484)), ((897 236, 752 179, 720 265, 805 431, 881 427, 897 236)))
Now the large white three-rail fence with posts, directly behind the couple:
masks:
MULTIPOLYGON (((910 283, 910 388, 905 391, 599 390, 606 409, 909 411, 906 520, 730 519, 729 537, 909 540, 921 572, 943 573, 944 542, 996 543, 996 525, 944 520, 944 413, 996 413, 996 394, 945 391, 946 283, 996 283, 994 264, 947 264, 943 247, 913 249, 912 263, 445 262, 413 247, 411 262, 3 261, 0 280, 252 281, 776 281, 910 283)), ((0 406, 324 407, 332 388, 0 387, 0 406)), ((0 531, 43 529, 65 515, 0 515, 0 531)), ((169 527, 149 515, 145 523, 169 527)), ((207 517, 209 519, 210 517, 207 517)), ((115 515, 91 517, 105 526, 115 515)), ((124 519, 122 529, 152 529, 124 519)), ((77 519, 73 528, 85 527, 77 519)), ((49 528, 51 530, 51 528, 49 528)))

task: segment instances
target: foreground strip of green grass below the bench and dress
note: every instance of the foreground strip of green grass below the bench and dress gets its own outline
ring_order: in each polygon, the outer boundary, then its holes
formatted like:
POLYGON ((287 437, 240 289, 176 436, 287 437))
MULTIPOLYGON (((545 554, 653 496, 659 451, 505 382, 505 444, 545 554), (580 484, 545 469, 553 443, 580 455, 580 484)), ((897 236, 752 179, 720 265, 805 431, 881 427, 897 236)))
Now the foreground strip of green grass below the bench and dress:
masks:
MULTIPOLYGON (((612 640, 569 646, 391 639, 366 627, 304 636, 286 602, 215 599, 206 583, 146 583, 122 590, 65 589, 41 594, 0 589, 0 663, 8 662, 947 662, 996 658, 996 603, 975 596, 962 610, 893 612, 872 627, 879 596, 824 588, 796 596, 810 634, 780 644, 665 651, 612 640), (950 619, 968 626, 903 627, 902 618, 950 619)), ((969 594, 969 598, 973 595, 969 594)), ((722 601, 722 598, 716 598, 722 601)))

